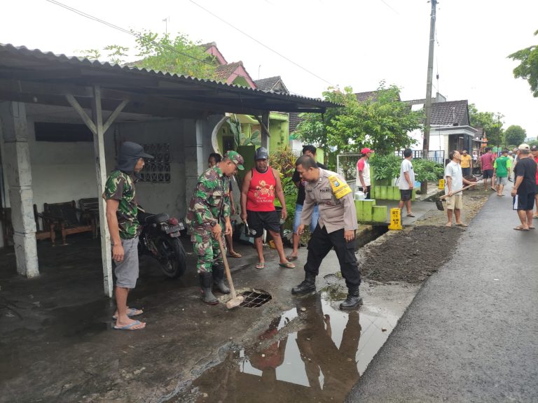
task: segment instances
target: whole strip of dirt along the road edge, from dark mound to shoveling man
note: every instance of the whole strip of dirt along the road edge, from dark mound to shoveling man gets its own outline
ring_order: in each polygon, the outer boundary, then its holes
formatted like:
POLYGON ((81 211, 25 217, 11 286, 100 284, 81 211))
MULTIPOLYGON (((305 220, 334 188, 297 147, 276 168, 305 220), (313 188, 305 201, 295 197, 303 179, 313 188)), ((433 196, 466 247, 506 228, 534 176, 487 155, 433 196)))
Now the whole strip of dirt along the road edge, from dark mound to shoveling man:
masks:
MULTIPOLYGON (((464 222, 472 225, 472 218, 490 194, 482 189, 464 193, 464 222)), ((361 248, 361 276, 373 284, 425 281, 448 260, 465 230, 462 227, 445 227, 446 222, 446 211, 434 210, 415 222, 415 227, 389 231, 361 248), (389 240, 385 238, 387 236, 389 240)))

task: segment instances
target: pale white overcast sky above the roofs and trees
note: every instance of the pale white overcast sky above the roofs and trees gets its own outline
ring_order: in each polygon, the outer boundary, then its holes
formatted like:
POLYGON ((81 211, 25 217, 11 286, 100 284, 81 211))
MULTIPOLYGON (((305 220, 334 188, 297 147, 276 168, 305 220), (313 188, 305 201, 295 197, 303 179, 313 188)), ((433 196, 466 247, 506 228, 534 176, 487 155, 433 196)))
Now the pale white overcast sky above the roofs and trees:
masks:
MULTIPOLYGON (((401 87, 402 99, 426 94, 431 4, 425 0, 61 2, 125 29, 167 29, 193 41, 214 41, 228 62, 242 60, 255 80, 282 76, 296 94, 320 97, 329 84, 371 91, 381 80, 401 87)), ((525 80, 513 78, 517 64, 506 58, 538 43, 533 36, 537 16, 537 0, 441 0, 434 93, 439 90, 449 101, 467 99, 479 111, 500 112, 505 129, 520 125, 527 136, 537 136, 538 99, 525 80)), ((76 50, 133 47, 135 42, 129 34, 49 1, 18 0, 2 2, 0 43, 75 55, 76 50)))

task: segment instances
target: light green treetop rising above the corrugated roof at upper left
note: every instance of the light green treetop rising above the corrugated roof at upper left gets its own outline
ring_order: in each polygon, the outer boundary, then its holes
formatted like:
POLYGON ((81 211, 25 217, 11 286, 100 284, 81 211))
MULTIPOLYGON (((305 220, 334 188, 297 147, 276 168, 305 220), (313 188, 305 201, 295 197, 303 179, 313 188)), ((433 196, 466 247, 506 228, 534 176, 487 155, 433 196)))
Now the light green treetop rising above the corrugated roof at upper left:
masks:
MULTIPOLYGON (((165 71, 185 76, 206 78, 214 80, 216 62, 214 57, 208 55, 200 43, 191 41, 188 36, 178 33, 175 38, 169 34, 159 36, 152 31, 136 32, 135 49, 137 57, 140 57, 133 65, 148 70, 165 71)), ((130 50, 121 45, 108 45, 104 48, 108 51, 109 62, 116 64, 125 63, 125 57, 130 50)), ((99 59, 101 52, 98 49, 78 51, 88 59, 99 59)))

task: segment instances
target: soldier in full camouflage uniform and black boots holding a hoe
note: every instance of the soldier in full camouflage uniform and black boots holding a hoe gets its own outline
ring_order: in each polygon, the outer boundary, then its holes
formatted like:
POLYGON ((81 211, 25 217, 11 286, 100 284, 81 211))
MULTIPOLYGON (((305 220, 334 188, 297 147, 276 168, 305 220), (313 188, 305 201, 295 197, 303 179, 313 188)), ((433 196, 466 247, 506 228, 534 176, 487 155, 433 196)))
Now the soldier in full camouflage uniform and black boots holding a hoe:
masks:
POLYGON ((230 224, 230 177, 237 169, 244 169, 243 157, 228 151, 221 162, 207 169, 196 184, 186 217, 191 228, 191 241, 198 262, 196 269, 202 288, 202 299, 207 304, 218 304, 212 293, 212 283, 221 292, 230 289, 224 282, 224 264, 219 249, 219 237, 223 242, 221 223, 225 223, 224 234, 231 234, 230 224))

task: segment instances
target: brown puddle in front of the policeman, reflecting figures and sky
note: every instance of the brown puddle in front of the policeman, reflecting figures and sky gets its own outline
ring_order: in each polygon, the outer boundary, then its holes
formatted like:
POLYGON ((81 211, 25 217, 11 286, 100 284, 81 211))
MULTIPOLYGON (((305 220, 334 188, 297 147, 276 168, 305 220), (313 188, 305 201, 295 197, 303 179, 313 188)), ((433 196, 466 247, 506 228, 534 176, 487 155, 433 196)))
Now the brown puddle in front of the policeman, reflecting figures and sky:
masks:
POLYGON ((202 374, 193 382, 195 401, 342 402, 398 317, 364 306, 339 311, 326 297, 301 298, 296 309, 270 323, 254 348, 230 352, 202 374))

